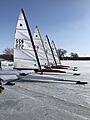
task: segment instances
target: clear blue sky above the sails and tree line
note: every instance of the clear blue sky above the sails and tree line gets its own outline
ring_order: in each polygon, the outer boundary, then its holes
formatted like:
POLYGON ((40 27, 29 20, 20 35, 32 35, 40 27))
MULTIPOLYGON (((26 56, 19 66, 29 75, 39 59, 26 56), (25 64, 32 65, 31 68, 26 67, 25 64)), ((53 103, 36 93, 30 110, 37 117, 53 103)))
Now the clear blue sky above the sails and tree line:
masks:
POLYGON ((90 0, 0 0, 0 53, 13 47, 21 8, 32 33, 37 25, 68 55, 90 56, 90 0))

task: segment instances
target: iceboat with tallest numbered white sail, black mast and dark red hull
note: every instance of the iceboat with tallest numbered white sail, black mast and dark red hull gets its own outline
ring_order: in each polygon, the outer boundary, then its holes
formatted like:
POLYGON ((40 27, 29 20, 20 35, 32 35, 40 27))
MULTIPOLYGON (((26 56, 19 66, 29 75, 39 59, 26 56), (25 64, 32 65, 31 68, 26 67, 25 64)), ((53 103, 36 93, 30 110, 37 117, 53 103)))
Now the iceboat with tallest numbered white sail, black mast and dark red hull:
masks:
MULTIPOLYGON (((42 53, 43 54, 43 53, 42 53)), ((47 69, 42 66, 32 38, 32 34, 23 9, 20 12, 14 42, 14 69, 34 70, 35 72, 66 73, 65 71, 47 69)), ((42 59, 45 63, 45 59, 42 59)), ((46 61, 47 62, 47 61, 46 61)))

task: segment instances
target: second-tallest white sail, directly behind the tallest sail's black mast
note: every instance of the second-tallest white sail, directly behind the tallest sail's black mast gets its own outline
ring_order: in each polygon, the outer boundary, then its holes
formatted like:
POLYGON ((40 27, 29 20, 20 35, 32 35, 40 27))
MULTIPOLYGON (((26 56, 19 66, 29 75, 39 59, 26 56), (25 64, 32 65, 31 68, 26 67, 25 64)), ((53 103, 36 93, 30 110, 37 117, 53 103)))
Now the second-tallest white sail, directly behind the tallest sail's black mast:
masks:
POLYGON ((40 65, 41 66, 48 65, 48 58, 45 53, 44 43, 37 26, 35 28, 33 40, 40 61, 40 65))

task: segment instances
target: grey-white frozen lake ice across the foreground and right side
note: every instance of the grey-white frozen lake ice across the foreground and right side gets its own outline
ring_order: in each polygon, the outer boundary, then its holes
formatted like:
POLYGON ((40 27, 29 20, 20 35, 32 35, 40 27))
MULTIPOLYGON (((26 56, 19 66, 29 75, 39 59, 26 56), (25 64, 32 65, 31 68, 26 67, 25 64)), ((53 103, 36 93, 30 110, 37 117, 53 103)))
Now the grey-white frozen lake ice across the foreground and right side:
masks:
MULTIPOLYGON (((78 66, 80 76, 58 77, 87 81, 15 82, 0 94, 0 120, 90 120, 90 61, 62 61, 78 66)), ((4 76, 7 77, 7 76, 4 76)))

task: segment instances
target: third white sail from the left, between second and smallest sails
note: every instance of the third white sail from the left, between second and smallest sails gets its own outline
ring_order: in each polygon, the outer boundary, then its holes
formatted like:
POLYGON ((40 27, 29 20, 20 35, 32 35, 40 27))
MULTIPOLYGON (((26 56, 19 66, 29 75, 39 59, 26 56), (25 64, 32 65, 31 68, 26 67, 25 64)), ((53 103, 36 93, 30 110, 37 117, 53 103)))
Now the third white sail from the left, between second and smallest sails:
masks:
POLYGON ((55 64, 55 61, 54 61, 54 58, 53 58, 53 55, 52 55, 51 48, 49 46, 47 37, 45 37, 44 46, 45 46, 46 54, 48 56, 49 64, 55 64))

